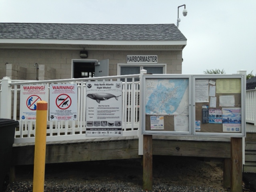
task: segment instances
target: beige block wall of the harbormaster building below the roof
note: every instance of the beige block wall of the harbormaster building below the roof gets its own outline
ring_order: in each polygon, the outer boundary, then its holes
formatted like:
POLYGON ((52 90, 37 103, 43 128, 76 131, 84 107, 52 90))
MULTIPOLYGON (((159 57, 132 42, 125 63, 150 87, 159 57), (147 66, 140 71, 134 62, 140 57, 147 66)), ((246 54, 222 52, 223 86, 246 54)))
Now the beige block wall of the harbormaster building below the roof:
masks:
MULTIPOLYGON (((81 49, 82 50, 82 49, 81 49)), ((36 80, 36 66, 49 67, 45 76, 49 79, 71 78, 72 59, 81 59, 80 50, 57 49, 0 49, 0 78, 5 75, 1 71, 6 70, 5 63, 26 68, 26 79, 36 80), (15 53, 15 54, 14 54, 15 53), (50 72, 55 70, 50 74, 50 72)), ((109 75, 117 75, 117 64, 126 64, 127 54, 157 54, 158 64, 167 64, 167 74, 182 73, 182 51, 140 51, 140 50, 88 50, 88 58, 94 60, 109 59, 109 75)), ((46 68, 46 71, 48 69, 46 68)))

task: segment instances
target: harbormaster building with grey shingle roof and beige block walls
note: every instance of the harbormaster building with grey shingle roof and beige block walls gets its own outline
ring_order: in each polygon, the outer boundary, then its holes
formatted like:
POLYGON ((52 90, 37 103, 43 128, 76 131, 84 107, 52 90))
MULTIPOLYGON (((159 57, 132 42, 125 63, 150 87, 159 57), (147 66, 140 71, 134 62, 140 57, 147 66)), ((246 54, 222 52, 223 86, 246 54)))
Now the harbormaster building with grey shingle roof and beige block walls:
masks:
POLYGON ((181 74, 186 41, 174 24, 0 23, 0 78, 181 74))

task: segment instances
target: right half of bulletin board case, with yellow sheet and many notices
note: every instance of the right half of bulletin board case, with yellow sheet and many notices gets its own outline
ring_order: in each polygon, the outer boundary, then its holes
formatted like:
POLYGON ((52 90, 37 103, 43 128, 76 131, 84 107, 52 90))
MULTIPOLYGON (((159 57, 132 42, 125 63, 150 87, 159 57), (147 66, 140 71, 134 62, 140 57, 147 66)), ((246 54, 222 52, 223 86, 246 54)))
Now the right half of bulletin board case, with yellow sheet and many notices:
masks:
POLYGON ((193 133, 244 136, 244 75, 193 77, 193 133))

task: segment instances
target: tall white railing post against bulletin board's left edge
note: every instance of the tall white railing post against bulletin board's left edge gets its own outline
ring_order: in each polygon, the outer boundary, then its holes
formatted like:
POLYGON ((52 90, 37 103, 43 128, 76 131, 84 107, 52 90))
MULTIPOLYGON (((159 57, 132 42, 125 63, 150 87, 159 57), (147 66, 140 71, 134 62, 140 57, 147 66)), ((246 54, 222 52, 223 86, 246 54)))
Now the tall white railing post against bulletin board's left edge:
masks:
POLYGON ((138 155, 143 155, 143 135, 142 135, 142 112, 143 112, 143 104, 142 104, 142 96, 143 96, 143 74, 146 74, 147 70, 140 70, 140 118, 139 118, 139 128, 138 128, 138 138, 139 138, 139 149, 138 155))

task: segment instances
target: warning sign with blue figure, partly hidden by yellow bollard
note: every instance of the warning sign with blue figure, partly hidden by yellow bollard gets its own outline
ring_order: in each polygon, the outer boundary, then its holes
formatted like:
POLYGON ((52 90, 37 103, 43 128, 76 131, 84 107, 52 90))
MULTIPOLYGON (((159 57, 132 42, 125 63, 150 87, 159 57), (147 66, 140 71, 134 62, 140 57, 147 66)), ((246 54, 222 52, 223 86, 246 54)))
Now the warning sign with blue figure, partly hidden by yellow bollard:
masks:
POLYGON ((20 87, 20 121, 36 121, 36 103, 48 102, 48 85, 22 85, 20 87))

